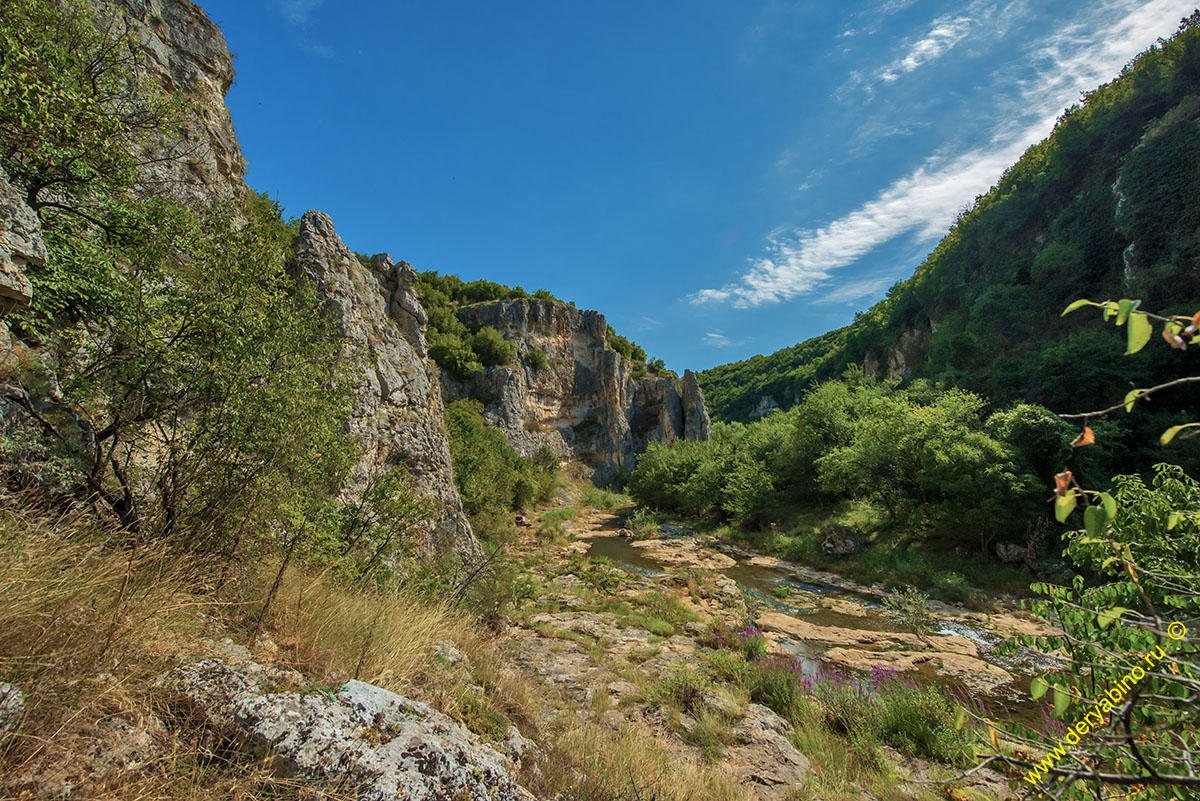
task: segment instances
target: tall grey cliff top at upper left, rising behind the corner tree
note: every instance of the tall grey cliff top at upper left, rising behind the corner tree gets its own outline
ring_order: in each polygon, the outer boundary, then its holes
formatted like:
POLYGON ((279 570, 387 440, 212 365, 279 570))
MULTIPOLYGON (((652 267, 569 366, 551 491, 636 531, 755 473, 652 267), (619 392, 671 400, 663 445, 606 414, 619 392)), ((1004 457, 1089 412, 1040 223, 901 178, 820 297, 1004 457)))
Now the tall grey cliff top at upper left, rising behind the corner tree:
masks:
POLYGON ((191 107, 179 140, 164 152, 144 153, 144 188, 203 207, 235 200, 245 191, 246 162, 224 104, 234 70, 221 29, 190 0, 92 5, 102 20, 115 16, 128 28, 142 46, 143 73, 191 107))

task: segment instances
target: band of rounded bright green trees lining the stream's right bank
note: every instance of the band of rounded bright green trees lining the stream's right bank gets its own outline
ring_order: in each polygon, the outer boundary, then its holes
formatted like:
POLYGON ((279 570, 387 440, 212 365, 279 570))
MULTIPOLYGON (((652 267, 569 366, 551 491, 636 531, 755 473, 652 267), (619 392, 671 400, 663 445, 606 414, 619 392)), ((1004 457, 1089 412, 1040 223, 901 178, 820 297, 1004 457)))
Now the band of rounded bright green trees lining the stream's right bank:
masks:
POLYGON ((1049 458, 1066 456, 1070 439, 1037 406, 997 415, 960 390, 848 371, 787 411, 714 424, 708 442, 650 444, 628 489, 649 508, 743 528, 786 517, 796 502, 866 499, 892 520, 953 523, 985 542, 1025 531, 1039 487, 1061 469, 1049 458))

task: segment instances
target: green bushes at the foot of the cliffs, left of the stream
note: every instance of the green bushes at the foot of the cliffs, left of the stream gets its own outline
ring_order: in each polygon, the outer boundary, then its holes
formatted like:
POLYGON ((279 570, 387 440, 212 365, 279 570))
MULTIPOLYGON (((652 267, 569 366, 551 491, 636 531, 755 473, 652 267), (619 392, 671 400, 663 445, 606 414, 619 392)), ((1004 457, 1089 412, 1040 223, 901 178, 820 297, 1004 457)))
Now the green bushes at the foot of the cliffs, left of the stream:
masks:
POLYGON ((445 424, 463 511, 481 534, 494 535, 508 525, 514 511, 553 494, 557 460, 548 464, 544 458, 530 460, 517 454, 504 434, 484 420, 479 402, 449 404, 445 424))

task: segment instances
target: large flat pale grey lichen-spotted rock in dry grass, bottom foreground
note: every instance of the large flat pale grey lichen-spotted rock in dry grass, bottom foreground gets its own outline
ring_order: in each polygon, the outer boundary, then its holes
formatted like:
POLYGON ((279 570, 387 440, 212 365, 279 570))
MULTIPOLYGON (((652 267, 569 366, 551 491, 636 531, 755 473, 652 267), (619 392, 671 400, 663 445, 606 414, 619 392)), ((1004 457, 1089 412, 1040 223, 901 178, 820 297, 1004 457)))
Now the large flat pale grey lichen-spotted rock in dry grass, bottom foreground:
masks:
POLYGON ((277 772, 358 787, 360 801, 533 801, 506 757, 432 707, 354 680, 336 695, 272 692, 292 677, 205 660, 163 683, 210 725, 270 754, 277 772))

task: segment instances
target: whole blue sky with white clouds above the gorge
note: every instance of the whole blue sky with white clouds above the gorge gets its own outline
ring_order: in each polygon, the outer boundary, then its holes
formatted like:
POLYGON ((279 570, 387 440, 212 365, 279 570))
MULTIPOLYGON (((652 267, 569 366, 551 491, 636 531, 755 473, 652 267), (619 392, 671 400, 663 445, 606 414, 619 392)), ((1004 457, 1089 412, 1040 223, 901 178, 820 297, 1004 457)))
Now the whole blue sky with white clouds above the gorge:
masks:
POLYGON ((674 369, 848 323, 1195 0, 200 0, 247 181, 674 369))

